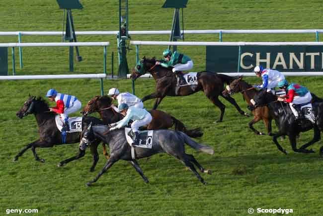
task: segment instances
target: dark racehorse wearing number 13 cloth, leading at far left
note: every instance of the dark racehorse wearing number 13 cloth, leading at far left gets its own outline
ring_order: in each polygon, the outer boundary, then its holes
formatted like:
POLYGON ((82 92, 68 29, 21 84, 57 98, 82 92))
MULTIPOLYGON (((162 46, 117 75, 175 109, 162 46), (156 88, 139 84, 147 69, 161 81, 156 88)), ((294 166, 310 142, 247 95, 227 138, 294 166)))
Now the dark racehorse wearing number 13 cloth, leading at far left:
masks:
MULTIPOLYGON (((39 128, 39 139, 27 144, 23 147, 19 153, 14 157, 14 161, 18 160, 28 148, 31 148, 34 157, 37 161, 45 162, 43 158, 40 158, 36 153, 36 147, 53 147, 54 145, 64 144, 61 139, 61 132, 58 130, 55 122, 56 114, 49 111, 48 104, 41 97, 36 98, 36 96, 29 96, 25 101, 21 109, 16 113, 16 116, 20 119, 23 117, 34 114, 37 125, 39 128)), ((86 128, 88 124, 92 122, 93 124, 103 124, 103 122, 94 117, 84 117, 82 119, 82 127, 86 128)), ((65 144, 79 143, 81 139, 81 132, 67 133, 65 144)), ((98 160, 97 145, 100 142, 98 140, 93 141, 93 146, 91 146, 91 152, 93 155, 93 164, 91 171, 94 171, 94 167, 98 160)))

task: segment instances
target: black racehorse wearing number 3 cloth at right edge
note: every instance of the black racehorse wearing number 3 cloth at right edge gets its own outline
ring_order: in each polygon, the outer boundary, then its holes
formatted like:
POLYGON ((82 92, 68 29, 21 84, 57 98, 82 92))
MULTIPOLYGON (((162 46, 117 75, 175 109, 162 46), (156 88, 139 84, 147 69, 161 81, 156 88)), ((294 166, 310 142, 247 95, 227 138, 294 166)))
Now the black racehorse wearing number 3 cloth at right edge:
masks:
MULTIPOLYGON (((262 91, 254 97, 256 106, 268 105, 268 108, 275 119, 276 125, 278 126, 278 133, 273 136, 273 141, 277 145, 278 149, 283 153, 287 154, 287 151, 277 142, 277 138, 283 135, 289 137, 291 146, 295 152, 312 153, 312 149, 306 149, 310 145, 321 140, 321 131, 323 131, 323 100, 313 95, 313 111, 316 116, 316 123, 313 124, 308 119, 301 119, 296 121, 295 116, 290 109, 289 105, 285 102, 277 101, 277 96, 270 92, 262 91), (314 138, 302 145, 300 148, 296 147, 296 138, 301 132, 306 132, 313 129, 314 138)), ((320 154, 323 153, 323 147, 320 149, 320 154)))

